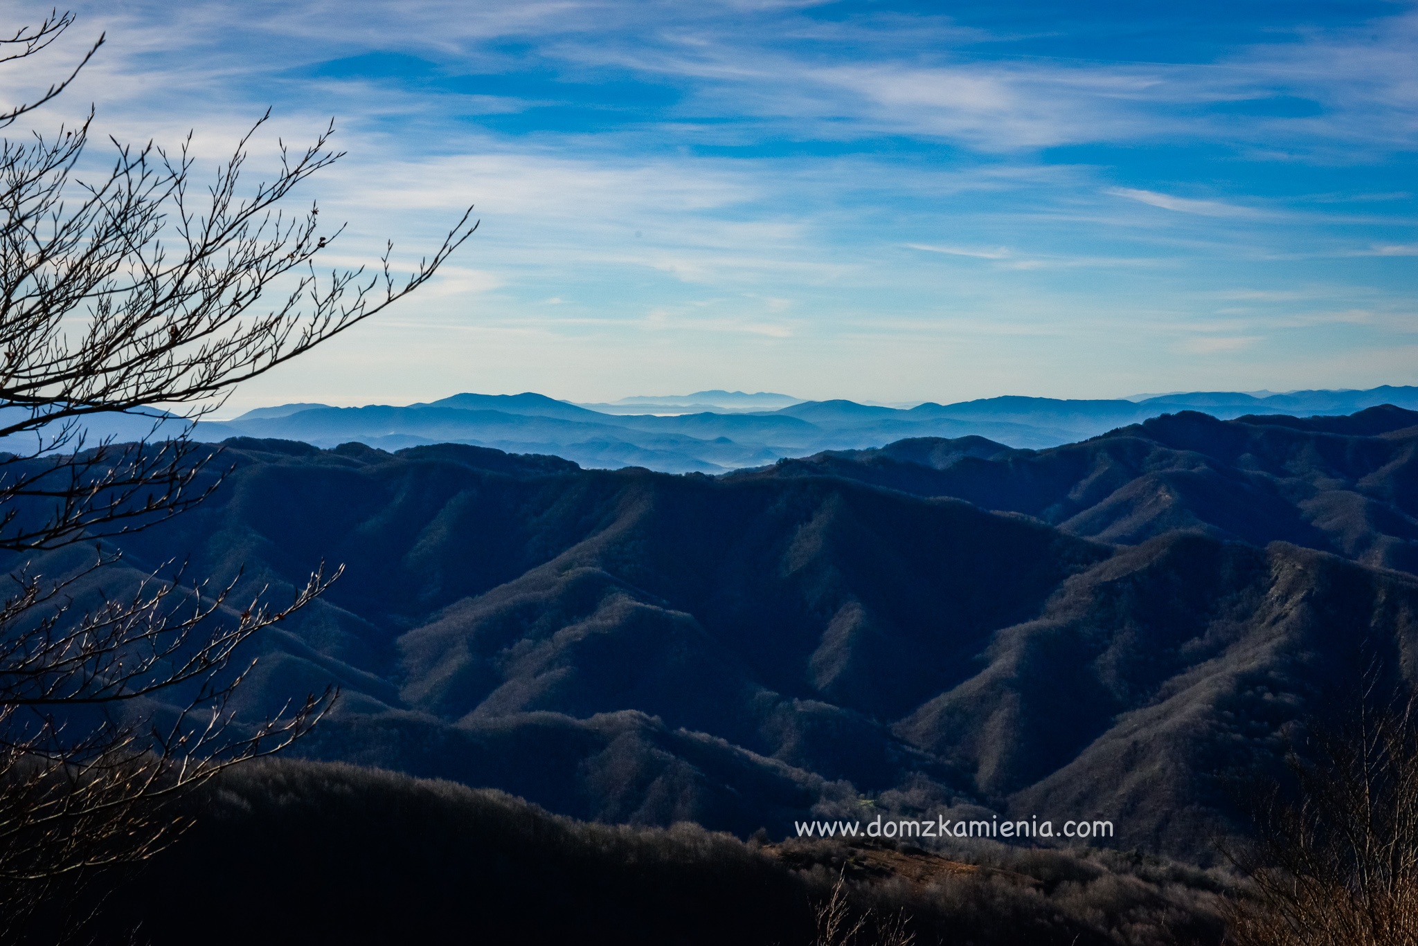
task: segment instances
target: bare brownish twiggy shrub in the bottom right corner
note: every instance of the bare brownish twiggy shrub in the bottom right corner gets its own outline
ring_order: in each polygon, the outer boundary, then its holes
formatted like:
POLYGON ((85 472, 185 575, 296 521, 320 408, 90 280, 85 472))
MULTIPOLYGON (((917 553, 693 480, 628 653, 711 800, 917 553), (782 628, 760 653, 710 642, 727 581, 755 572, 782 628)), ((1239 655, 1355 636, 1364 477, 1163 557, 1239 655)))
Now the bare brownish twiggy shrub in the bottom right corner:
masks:
MULTIPOLYGON (((1374 688, 1371 686, 1370 691, 1374 688)), ((1358 701, 1292 755, 1295 797, 1261 797, 1256 838, 1227 850, 1251 881, 1235 946, 1418 945, 1418 703, 1358 701)))

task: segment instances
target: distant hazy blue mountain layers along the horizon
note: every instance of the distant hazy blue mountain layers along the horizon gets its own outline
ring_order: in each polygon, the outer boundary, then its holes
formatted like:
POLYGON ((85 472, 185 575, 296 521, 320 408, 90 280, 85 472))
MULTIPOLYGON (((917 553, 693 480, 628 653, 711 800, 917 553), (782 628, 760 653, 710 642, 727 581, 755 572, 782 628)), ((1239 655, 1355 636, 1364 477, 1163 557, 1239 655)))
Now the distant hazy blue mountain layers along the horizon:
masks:
MULTIPOLYGON (((1198 410, 1245 414, 1350 414, 1378 404, 1418 408, 1418 387, 1289 394, 1164 394, 1133 400, 991 397, 956 404, 883 407, 849 400, 798 401, 787 394, 696 391, 571 404, 543 394, 455 394, 406 407, 262 407, 203 421, 196 435, 299 440, 318 447, 360 441, 383 450, 464 443, 508 452, 554 454, 581 467, 645 467, 662 472, 726 472, 861 450, 915 437, 986 437, 1042 450, 1096 437, 1149 417, 1198 410)), ((99 431, 102 433, 102 431, 99 431)))

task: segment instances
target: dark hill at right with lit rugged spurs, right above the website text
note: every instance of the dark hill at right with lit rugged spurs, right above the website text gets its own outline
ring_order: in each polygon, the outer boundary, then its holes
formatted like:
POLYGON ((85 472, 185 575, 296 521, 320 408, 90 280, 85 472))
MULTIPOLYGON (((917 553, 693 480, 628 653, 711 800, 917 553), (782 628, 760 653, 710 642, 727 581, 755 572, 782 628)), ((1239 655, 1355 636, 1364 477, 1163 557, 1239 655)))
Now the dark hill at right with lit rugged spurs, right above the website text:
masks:
POLYGON ((895 730, 1012 813, 1092 806, 1127 844, 1202 850, 1229 777, 1415 647, 1418 579, 1173 533, 1071 579, 895 730))

